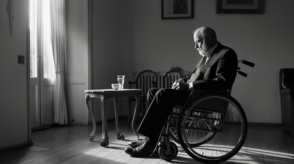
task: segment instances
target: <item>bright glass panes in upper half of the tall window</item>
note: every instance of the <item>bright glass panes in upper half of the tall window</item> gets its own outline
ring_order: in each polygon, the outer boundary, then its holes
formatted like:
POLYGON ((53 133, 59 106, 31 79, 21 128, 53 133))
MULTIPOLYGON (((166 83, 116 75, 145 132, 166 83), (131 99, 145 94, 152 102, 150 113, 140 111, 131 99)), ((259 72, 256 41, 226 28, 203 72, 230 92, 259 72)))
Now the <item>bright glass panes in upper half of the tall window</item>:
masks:
POLYGON ((38 70, 46 79, 56 77, 50 20, 50 0, 29 0, 30 77, 38 77, 38 70))

